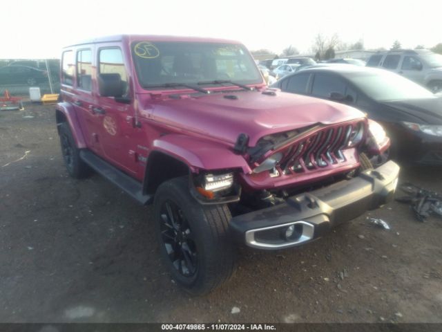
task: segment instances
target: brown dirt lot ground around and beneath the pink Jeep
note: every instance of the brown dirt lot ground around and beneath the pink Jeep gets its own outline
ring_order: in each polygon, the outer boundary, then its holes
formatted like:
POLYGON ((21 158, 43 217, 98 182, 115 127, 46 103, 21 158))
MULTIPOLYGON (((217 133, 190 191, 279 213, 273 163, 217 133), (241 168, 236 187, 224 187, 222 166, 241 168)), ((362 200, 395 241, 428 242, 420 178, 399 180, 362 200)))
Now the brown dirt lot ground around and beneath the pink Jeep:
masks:
MULTIPOLYGON (((53 107, 1 112, 0 142, 0 322, 442 322, 442 221, 407 205, 302 248, 241 249, 231 282, 190 298, 158 258, 150 207, 67 176, 53 107)), ((440 190, 442 173, 401 180, 440 190)))

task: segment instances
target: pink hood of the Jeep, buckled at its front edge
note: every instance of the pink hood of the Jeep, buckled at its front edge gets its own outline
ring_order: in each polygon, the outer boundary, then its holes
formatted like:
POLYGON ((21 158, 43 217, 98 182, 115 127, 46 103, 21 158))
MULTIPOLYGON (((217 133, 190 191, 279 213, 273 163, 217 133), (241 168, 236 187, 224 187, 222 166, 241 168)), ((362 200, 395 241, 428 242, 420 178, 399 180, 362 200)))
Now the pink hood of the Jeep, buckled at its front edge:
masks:
POLYGON ((152 120, 233 144, 240 133, 253 147, 262 136, 310 126, 365 118, 364 113, 336 102, 292 93, 229 91, 200 97, 183 95, 153 104, 152 120))

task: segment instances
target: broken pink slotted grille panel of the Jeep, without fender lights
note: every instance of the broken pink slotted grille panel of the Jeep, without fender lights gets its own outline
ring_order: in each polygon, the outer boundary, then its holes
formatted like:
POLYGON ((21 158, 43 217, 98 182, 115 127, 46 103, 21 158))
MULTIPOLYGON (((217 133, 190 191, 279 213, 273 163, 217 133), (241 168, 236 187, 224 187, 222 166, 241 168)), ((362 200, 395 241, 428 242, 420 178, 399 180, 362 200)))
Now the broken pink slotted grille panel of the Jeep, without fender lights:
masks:
POLYGON ((253 172, 242 181, 250 190, 302 185, 360 167, 370 137, 366 120, 314 125, 265 136, 246 151, 253 172))

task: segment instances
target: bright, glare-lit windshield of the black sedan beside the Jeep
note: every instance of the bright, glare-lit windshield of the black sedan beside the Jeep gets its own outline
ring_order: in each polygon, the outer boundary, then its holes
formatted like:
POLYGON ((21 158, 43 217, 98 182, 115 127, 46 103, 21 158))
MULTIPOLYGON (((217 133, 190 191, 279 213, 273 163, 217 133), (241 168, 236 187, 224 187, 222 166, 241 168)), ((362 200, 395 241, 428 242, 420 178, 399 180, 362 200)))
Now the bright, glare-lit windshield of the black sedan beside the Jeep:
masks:
POLYGON ((422 86, 395 73, 352 73, 348 80, 358 86, 370 98, 378 101, 435 98, 422 86))

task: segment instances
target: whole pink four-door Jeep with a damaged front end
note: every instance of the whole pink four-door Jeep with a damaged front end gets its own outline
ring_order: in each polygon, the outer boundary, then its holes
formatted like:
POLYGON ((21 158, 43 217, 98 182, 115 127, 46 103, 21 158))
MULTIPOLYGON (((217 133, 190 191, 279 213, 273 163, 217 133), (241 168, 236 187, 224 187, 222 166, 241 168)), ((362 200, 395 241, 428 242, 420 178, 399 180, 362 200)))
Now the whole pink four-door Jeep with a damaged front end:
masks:
MULTIPOLYGON (((64 48, 66 167, 153 203, 164 262, 187 291, 229 278, 236 245, 323 236, 392 198, 399 167, 365 114, 267 89, 238 42, 124 35, 64 48)), ((383 137, 380 137, 383 136, 383 137)))

